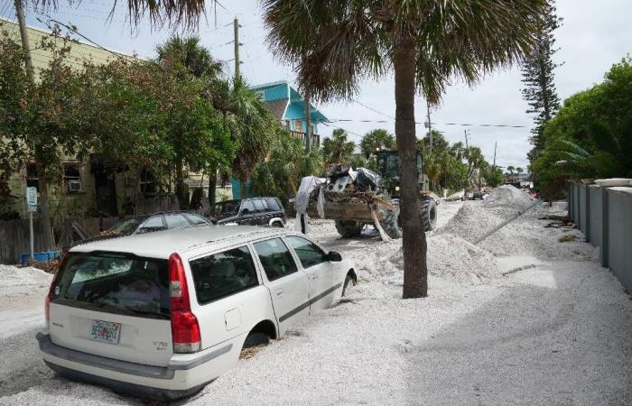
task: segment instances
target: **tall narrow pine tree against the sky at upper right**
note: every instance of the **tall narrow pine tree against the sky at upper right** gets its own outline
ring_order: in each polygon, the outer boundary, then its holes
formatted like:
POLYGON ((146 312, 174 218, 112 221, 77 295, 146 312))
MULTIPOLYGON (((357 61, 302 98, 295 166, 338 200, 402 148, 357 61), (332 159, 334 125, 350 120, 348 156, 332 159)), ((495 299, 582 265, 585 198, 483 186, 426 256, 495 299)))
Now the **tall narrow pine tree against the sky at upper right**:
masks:
POLYGON ((522 67, 522 82, 525 84, 522 95, 530 107, 526 113, 534 115, 530 139, 534 148, 527 154, 531 162, 544 149, 544 125, 560 108, 553 70, 561 64, 553 62, 553 54, 557 51, 553 32, 562 24, 562 18, 555 11, 553 3, 546 6, 546 13, 535 32, 537 42, 533 51, 526 56, 522 67))

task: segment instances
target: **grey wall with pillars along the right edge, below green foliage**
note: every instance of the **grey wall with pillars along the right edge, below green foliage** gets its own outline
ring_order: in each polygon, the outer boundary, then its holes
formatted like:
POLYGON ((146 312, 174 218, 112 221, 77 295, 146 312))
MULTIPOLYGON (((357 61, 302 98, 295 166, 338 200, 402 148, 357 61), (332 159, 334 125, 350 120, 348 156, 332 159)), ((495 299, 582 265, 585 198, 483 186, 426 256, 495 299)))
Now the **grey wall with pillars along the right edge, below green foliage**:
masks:
POLYGON ((601 265, 610 268, 632 292, 632 188, 603 188, 573 183, 569 217, 599 246, 601 265))

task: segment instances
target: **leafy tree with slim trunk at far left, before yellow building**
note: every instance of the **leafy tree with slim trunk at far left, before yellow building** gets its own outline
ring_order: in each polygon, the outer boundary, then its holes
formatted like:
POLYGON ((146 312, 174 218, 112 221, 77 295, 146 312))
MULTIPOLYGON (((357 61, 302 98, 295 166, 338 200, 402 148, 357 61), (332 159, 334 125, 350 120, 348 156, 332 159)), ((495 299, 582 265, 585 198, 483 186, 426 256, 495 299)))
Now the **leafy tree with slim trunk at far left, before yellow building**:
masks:
MULTIPOLYGON (((0 38, 3 63, 0 64, 2 78, 4 123, 0 129, 3 143, 23 147, 28 159, 33 160, 39 179, 39 203, 42 217, 42 240, 47 249, 52 246, 51 214, 49 195, 51 185, 61 178, 61 153, 70 155, 88 151, 89 143, 81 129, 82 106, 79 92, 83 83, 79 75, 70 68, 68 54, 70 39, 62 38, 59 30, 52 36, 42 38, 40 49, 49 51, 51 60, 41 69, 39 80, 32 81, 28 75, 19 73, 23 69, 23 53, 7 32, 0 38), (5 82, 6 80, 6 82, 5 82)), ((9 157, 11 154, 3 153, 9 157)), ((14 158, 14 157, 13 157, 14 158)), ((4 165, 6 169, 10 166, 4 165)), ((6 175, 4 175, 6 176, 6 175)))

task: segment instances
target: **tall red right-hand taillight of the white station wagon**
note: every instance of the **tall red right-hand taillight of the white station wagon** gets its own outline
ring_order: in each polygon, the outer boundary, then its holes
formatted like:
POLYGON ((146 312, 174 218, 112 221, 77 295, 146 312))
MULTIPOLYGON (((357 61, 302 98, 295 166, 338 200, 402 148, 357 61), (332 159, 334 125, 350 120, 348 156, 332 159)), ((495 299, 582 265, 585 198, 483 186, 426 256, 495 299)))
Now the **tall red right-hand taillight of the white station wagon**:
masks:
POLYGON ((201 349, 200 325, 191 312, 189 289, 180 255, 169 257, 169 296, 174 353, 195 353, 201 349))

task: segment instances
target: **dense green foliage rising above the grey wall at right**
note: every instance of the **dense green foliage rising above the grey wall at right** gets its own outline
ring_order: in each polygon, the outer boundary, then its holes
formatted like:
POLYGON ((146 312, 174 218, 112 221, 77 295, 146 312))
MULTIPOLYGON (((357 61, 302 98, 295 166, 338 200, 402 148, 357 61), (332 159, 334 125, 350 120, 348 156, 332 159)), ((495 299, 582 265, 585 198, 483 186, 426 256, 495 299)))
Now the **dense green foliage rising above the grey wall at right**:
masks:
POLYGON ((632 60, 613 65, 603 83, 567 98, 544 129, 532 165, 544 198, 569 180, 632 177, 632 60))

